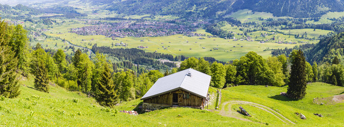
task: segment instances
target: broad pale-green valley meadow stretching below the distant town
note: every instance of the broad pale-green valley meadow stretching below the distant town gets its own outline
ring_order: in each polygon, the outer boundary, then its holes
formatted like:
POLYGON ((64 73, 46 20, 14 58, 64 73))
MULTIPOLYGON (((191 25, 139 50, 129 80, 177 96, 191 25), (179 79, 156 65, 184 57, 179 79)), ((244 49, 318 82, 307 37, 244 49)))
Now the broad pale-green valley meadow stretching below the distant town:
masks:
MULTIPOLYGON (((296 45, 304 44, 277 44, 275 41, 261 44, 259 41, 246 41, 233 39, 223 39, 218 37, 205 39, 198 39, 200 37, 193 36, 183 36, 183 35, 172 35, 172 36, 161 36, 161 37, 125 37, 117 38, 117 40, 112 40, 110 37, 105 37, 103 35, 78 35, 75 33, 70 33, 70 28, 82 27, 83 24, 69 24, 69 25, 53 25, 53 28, 48 28, 49 30, 45 32, 46 35, 52 37, 58 37, 60 39, 65 39, 70 41, 70 43, 82 47, 92 48, 94 44, 97 46, 110 46, 116 43, 128 44, 125 48, 137 48, 138 46, 148 47, 143 50, 148 52, 159 52, 168 53, 172 55, 185 55, 194 57, 205 57, 212 56, 218 60, 228 61, 240 58, 243 54, 249 51, 255 51, 264 58, 270 56, 271 51, 269 49, 284 49, 292 48, 296 45), (218 50, 214 50, 218 48, 218 50), (210 51, 212 50, 212 51, 210 51), (264 51, 265 50, 265 51, 264 51)), ((257 39, 270 39, 274 35, 269 35, 266 37, 260 37, 262 33, 270 33, 266 31, 256 31, 250 36, 258 36, 257 39)), ((198 29, 196 33, 206 33, 205 30, 198 29)), ((206 33, 211 35, 210 33, 206 33)), ((310 41, 305 39, 295 39, 293 36, 278 34, 276 37, 281 37, 282 41, 304 41, 307 43, 317 43, 317 41, 310 41), (294 39, 293 39, 294 38, 294 39)), ((60 41, 60 43, 63 43, 60 41)), ((43 41, 43 45, 48 45, 48 47, 54 47, 56 41, 50 43, 49 41, 43 41)), ((61 44, 58 44, 61 45, 61 44)), ((57 47, 61 48, 61 46, 57 47)), ((124 48, 121 46, 114 46, 112 48, 124 48)))

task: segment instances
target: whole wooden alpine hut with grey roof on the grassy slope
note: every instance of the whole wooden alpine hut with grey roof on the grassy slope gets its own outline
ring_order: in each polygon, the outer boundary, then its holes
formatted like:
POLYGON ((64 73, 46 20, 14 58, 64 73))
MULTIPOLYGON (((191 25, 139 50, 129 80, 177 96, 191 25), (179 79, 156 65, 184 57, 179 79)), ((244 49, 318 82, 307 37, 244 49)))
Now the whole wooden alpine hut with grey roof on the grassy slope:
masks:
POLYGON ((166 107, 203 109, 208 101, 211 76, 193 69, 186 69, 159 78, 141 98, 142 110, 166 107))

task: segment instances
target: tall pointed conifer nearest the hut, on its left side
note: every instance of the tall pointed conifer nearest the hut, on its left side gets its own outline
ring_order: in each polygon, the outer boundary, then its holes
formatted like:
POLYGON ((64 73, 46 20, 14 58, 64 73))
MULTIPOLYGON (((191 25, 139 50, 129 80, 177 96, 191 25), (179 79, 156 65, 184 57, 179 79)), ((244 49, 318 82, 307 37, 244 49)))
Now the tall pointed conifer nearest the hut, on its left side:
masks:
POLYGON ((97 82, 99 91, 96 95, 96 100, 100 105, 106 107, 113 107, 117 103, 117 90, 115 91, 115 84, 112 79, 111 69, 108 65, 104 66, 104 70, 97 82))

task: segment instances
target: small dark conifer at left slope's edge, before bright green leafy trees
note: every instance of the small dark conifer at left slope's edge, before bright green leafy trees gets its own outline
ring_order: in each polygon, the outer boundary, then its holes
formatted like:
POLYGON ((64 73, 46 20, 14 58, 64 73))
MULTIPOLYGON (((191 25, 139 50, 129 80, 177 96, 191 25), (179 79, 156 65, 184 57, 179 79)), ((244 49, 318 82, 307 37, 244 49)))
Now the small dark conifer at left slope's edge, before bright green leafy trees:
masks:
POLYGON ((35 69, 37 70, 37 74, 34 78, 34 88, 38 91, 49 93, 49 77, 47 68, 44 63, 40 62, 35 69))

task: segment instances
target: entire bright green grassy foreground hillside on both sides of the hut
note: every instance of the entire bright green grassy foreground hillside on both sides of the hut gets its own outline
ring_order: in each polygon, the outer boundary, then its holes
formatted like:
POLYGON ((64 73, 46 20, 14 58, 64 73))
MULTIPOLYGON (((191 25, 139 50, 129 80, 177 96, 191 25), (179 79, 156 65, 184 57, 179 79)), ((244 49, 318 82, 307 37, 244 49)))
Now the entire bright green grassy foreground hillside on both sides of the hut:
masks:
MULTIPOLYGON (((69 92, 58 86, 50 86, 50 93, 33 89, 33 77, 21 81, 22 94, 14 99, 0 101, 0 125, 8 126, 285 126, 276 117, 247 104, 233 104, 235 111, 239 105, 244 107, 253 121, 242 121, 236 118, 218 115, 219 111, 209 112, 189 108, 169 108, 132 116, 119 113, 119 110, 133 110, 142 102, 139 99, 124 102, 114 109, 103 108, 93 98, 79 92, 69 92), (178 117, 180 115, 180 117, 178 117), (264 123, 264 124, 262 124, 264 123)), ((312 83, 307 88, 304 99, 293 101, 279 92, 286 87, 239 86, 222 90, 222 102, 243 100, 265 105, 296 123, 295 126, 314 126, 344 124, 344 103, 319 105, 313 98, 330 97, 344 91, 342 87, 325 83, 312 83), (301 120, 294 112, 304 114, 307 119, 301 120), (320 118, 312 113, 320 113, 320 118)), ((228 108, 223 105, 221 108, 228 108)))

